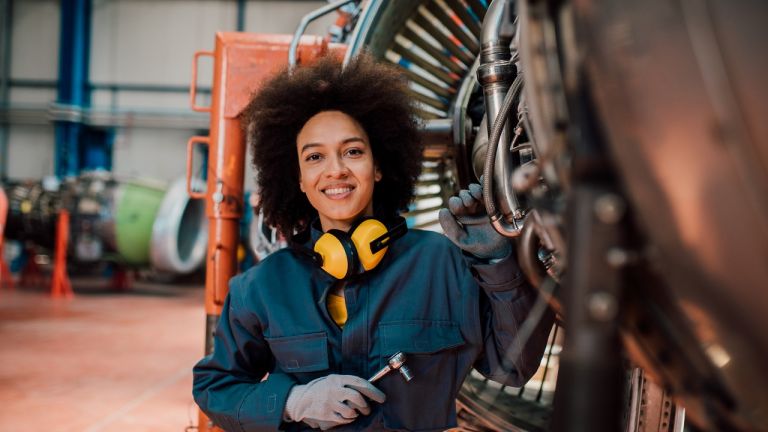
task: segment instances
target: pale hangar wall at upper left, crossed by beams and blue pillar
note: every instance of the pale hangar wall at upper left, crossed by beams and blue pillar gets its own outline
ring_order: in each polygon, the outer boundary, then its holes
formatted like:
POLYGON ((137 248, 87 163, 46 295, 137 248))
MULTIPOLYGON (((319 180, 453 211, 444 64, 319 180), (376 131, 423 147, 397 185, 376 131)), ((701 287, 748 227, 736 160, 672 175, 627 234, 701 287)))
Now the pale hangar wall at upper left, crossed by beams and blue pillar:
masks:
MULTIPOLYGON (((248 1, 245 30, 293 33, 304 14, 326 2, 248 1)), ((325 34, 331 14, 307 34, 325 34)), ((11 79, 55 80, 58 74, 60 7, 57 0, 13 1, 11 79)), ((212 50, 216 31, 234 31, 234 0, 93 0, 90 80, 95 84, 189 85, 193 53, 212 50)), ((198 83, 210 87, 212 62, 202 61, 198 83)), ((15 107, 46 108, 55 89, 12 88, 15 107)), ((199 103, 204 104, 205 99, 199 103)), ((186 93, 95 91, 94 109, 189 114, 186 93)), ((116 130, 113 171, 170 181, 184 174, 186 141, 195 130, 126 127, 116 130)), ((53 126, 10 125, 8 176, 40 178, 53 173, 53 126)), ((253 174, 246 175, 246 184, 253 174)))

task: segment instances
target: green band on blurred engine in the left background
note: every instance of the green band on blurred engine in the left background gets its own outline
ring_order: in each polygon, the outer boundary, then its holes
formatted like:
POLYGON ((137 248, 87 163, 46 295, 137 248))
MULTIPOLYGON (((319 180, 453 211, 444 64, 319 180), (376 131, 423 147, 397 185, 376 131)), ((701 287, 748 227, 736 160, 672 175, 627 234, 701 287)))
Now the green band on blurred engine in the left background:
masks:
POLYGON ((126 264, 146 264, 152 225, 166 191, 135 181, 123 183, 120 188, 115 209, 117 253, 126 264))

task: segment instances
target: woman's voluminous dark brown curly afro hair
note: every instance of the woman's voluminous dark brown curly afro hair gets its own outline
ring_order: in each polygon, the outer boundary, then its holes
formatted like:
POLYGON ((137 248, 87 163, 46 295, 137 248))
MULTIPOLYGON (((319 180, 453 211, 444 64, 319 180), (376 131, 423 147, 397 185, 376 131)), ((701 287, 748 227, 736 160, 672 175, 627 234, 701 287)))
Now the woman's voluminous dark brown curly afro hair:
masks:
POLYGON ((368 134, 382 173, 373 193, 377 217, 386 219, 407 207, 421 171, 417 117, 407 83, 395 68, 361 54, 346 67, 325 56, 293 72, 284 69, 255 93, 242 120, 257 171, 259 209, 288 238, 317 216, 299 188, 296 138, 323 111, 349 115, 368 134))

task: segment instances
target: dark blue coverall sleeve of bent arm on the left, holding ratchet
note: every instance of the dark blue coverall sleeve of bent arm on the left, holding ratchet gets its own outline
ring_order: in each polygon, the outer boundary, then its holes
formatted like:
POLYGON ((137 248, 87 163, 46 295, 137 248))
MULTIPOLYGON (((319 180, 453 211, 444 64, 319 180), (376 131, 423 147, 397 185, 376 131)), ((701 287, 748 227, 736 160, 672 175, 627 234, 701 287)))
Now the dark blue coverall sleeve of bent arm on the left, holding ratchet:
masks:
POLYGON ((203 412, 227 431, 274 431, 280 427, 288 392, 296 382, 273 371, 275 359, 261 325, 243 306, 242 279, 230 282, 213 353, 193 369, 193 394, 203 412))

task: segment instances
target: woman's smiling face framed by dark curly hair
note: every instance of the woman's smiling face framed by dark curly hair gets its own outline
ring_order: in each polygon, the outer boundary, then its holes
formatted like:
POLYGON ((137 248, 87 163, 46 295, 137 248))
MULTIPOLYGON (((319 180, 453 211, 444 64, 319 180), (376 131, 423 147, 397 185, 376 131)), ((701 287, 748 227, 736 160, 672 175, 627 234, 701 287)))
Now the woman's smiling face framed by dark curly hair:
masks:
POLYGON ((320 215, 323 231, 349 230, 360 216, 373 216, 373 186, 381 172, 368 135, 341 111, 310 118, 296 137, 301 191, 320 215))

